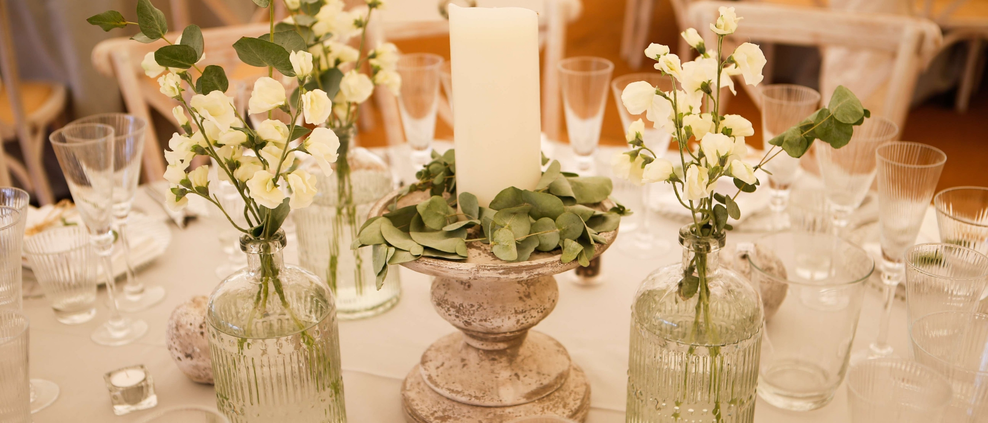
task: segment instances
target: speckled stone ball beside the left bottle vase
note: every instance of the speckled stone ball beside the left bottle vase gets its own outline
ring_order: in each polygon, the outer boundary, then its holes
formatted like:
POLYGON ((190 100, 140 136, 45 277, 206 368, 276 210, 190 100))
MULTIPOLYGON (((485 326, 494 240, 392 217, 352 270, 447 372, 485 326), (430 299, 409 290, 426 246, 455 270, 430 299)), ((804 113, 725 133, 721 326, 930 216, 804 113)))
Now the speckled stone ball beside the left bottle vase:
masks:
POLYGON ((212 384, 209 358, 209 334, 206 326, 206 305, 209 298, 200 295, 179 305, 168 318, 165 344, 168 352, 189 379, 200 384, 212 384))

